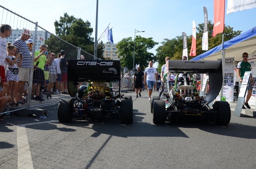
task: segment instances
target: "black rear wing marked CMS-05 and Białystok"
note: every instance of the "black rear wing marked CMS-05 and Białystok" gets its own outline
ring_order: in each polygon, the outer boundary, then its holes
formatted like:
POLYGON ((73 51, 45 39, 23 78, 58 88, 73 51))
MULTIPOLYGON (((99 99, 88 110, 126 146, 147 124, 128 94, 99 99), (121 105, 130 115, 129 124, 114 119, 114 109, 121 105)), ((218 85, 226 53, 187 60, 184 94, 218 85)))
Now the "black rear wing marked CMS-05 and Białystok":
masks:
POLYGON ((76 96, 78 82, 120 82, 119 60, 68 60, 69 95, 76 96))

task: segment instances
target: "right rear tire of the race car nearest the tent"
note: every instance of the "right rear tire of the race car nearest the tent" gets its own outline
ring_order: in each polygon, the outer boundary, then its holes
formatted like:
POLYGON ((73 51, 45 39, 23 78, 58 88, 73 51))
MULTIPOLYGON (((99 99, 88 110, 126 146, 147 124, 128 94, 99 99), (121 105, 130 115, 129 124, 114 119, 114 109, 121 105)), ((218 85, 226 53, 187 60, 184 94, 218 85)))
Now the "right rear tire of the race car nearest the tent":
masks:
POLYGON ((229 103, 226 101, 215 101, 213 109, 215 111, 216 123, 221 126, 228 125, 231 118, 229 103))

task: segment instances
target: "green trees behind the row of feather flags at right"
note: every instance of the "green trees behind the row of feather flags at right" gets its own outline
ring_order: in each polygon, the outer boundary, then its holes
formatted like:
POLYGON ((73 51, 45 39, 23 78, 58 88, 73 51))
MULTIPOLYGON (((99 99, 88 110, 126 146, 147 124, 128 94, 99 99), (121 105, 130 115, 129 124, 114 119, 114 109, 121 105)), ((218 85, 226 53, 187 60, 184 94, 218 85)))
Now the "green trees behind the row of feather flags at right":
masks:
MULTIPOLYGON (((197 25, 197 34, 196 34, 196 45, 197 45, 197 56, 204 53, 205 51, 202 50, 202 38, 203 38, 203 28, 204 23, 200 23, 197 25)), ((222 43, 222 34, 217 34, 215 37, 212 37, 213 31, 213 24, 212 21, 208 21, 208 49, 212 49, 222 43)), ((242 31, 233 31, 233 28, 230 26, 226 26, 224 28, 224 42, 238 36, 241 34, 242 31)), ((182 51, 183 51, 183 38, 182 36, 176 36, 174 39, 164 39, 161 42, 161 46, 157 48, 157 60, 158 60, 158 68, 157 70, 160 71, 161 67, 165 63, 165 57, 169 56, 172 60, 181 60, 182 51)), ((187 36, 187 51, 188 54, 191 50, 192 44, 192 35, 187 36)), ((188 59, 192 59, 193 57, 188 57, 188 59)))

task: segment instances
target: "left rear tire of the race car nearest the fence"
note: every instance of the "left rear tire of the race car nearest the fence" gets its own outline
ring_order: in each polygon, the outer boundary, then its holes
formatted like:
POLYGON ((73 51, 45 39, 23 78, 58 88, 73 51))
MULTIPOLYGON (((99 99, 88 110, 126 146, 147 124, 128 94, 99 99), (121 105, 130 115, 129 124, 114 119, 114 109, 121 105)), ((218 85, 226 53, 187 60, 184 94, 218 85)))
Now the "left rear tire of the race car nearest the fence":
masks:
POLYGON ((62 98, 58 104, 58 120, 66 123, 72 120, 72 110, 74 109, 74 100, 70 98, 62 98))

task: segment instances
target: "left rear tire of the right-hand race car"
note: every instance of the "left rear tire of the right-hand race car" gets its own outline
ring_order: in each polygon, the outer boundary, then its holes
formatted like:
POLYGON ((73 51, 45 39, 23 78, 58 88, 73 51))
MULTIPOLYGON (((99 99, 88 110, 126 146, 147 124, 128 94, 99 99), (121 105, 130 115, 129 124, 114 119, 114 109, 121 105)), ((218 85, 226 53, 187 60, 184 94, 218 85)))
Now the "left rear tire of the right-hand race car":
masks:
POLYGON ((155 100, 153 102, 153 123, 164 124, 165 120, 165 101, 155 100))

